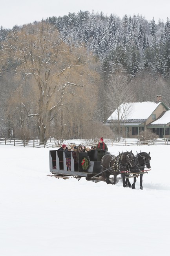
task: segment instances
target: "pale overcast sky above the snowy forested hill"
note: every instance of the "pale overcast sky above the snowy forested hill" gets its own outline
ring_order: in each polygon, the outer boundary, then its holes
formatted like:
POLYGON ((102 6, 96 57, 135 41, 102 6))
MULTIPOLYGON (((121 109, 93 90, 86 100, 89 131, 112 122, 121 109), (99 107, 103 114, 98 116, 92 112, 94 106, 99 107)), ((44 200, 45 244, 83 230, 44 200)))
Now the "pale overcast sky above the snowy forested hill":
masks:
POLYGON ((157 23, 159 19, 170 19, 170 0, 6 0, 0 7, 0 26, 13 28, 15 25, 23 25, 35 20, 40 21, 52 16, 63 16, 78 11, 90 13, 111 13, 122 18, 125 14, 142 15, 148 21, 154 17, 157 23))

